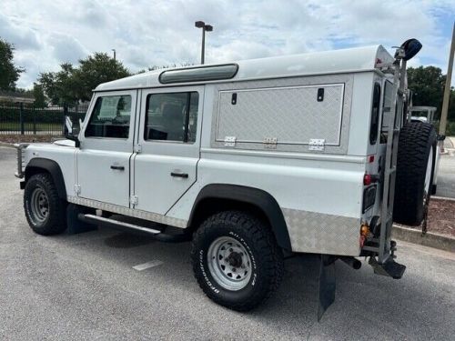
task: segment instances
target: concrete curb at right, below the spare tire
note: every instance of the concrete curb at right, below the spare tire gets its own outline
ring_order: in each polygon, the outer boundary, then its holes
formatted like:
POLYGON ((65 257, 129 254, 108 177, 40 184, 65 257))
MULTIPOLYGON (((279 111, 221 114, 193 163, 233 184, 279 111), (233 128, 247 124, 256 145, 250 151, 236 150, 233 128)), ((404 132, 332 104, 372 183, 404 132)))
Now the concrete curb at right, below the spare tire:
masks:
POLYGON ((425 236, 422 236, 421 231, 416 228, 396 225, 392 228, 392 236, 405 242, 455 252, 455 238, 451 236, 442 236, 431 232, 427 232, 425 236))

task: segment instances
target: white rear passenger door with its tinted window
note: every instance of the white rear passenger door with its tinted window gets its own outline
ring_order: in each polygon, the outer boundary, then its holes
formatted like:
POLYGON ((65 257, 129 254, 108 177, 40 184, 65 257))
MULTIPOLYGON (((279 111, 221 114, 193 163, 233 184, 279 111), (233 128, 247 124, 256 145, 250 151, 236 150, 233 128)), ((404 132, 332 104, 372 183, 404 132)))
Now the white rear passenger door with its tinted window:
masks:
POLYGON ((143 90, 135 141, 135 208, 166 215, 196 182, 204 86, 143 90))

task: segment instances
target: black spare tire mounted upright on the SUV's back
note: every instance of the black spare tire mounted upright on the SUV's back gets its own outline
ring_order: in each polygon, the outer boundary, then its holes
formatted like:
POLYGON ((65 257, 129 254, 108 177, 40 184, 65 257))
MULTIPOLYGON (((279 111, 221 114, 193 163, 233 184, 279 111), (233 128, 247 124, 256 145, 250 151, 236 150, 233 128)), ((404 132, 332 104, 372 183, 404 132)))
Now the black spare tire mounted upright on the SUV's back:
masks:
POLYGON ((433 183, 436 159, 436 131, 433 125, 423 122, 404 125, 399 133, 398 148, 393 220, 399 224, 419 226, 425 213, 424 202, 428 203, 430 199, 430 193, 425 195, 424 183, 431 149, 433 159, 429 192, 433 183))

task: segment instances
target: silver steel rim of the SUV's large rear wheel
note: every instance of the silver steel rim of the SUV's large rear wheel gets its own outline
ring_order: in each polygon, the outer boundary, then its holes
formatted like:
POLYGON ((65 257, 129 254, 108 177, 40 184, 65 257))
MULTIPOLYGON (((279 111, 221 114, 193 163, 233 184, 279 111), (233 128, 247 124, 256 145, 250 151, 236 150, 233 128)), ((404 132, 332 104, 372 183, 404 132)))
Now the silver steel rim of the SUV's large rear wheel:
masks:
POLYGON ((237 291, 248 285, 251 259, 245 246, 229 236, 214 240, 207 252, 210 275, 219 286, 237 291))

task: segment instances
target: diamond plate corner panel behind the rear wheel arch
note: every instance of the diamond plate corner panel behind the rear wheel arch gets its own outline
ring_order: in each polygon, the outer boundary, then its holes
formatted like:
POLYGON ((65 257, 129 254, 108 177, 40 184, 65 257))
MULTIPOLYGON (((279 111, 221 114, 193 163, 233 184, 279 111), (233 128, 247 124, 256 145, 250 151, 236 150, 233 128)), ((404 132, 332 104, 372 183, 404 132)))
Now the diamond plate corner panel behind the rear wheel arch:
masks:
POLYGON ((360 219, 282 208, 292 251, 359 256, 360 219))

